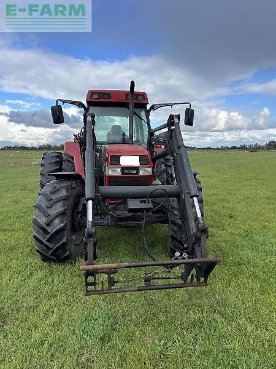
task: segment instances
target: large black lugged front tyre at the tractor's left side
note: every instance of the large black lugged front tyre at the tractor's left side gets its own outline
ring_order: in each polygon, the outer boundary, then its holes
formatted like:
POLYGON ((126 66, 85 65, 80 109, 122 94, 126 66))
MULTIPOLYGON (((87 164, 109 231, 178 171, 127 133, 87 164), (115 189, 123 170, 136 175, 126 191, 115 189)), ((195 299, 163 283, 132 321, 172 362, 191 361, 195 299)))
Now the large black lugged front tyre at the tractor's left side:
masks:
POLYGON ((39 193, 33 217, 33 238, 43 261, 75 261, 84 251, 84 228, 73 222, 84 197, 84 186, 74 180, 53 180, 39 193))

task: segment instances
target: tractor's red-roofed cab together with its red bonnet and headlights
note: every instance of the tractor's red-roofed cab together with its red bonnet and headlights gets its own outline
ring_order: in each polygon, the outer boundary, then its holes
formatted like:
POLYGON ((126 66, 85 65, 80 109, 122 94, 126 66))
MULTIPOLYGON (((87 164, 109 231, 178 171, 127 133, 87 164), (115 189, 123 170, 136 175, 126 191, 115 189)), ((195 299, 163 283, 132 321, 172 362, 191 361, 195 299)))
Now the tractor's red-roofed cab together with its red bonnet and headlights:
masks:
POLYGON ((134 92, 132 120, 129 91, 89 90, 86 102, 88 113, 95 114, 99 182, 104 186, 151 185, 146 93, 134 92))

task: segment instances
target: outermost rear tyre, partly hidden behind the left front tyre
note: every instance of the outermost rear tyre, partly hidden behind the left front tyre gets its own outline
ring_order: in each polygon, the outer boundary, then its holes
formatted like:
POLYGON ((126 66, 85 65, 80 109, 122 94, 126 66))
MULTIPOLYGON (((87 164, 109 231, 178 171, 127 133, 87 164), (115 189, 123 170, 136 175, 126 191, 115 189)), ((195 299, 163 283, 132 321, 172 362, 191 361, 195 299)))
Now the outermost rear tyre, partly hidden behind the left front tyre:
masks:
POLYGON ((62 161, 63 155, 61 152, 50 151, 43 154, 40 164, 40 190, 43 189, 45 184, 55 179, 50 173, 61 172, 62 161))

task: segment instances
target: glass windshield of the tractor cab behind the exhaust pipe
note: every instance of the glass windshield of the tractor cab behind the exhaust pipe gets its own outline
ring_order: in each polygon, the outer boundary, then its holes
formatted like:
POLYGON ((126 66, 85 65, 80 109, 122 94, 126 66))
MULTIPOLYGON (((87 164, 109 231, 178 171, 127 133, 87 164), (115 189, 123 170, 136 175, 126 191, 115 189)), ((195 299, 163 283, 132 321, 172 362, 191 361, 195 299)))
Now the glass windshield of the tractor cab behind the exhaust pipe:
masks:
MULTIPOLYGON (((146 124, 145 108, 135 108, 133 119, 133 143, 148 145, 148 125, 146 124)), ((128 116, 129 110, 122 106, 90 106, 89 113, 96 117, 95 133, 98 144, 127 144, 129 141, 128 116)))

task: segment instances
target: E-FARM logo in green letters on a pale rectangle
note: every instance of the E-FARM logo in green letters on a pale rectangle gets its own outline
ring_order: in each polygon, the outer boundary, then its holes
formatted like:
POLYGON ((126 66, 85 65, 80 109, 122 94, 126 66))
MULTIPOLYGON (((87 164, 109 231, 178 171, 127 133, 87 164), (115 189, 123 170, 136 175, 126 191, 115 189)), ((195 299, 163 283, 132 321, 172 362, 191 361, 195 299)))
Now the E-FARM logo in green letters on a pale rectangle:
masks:
POLYGON ((1 32, 91 32, 91 0, 1 0, 1 32))

